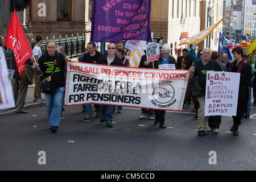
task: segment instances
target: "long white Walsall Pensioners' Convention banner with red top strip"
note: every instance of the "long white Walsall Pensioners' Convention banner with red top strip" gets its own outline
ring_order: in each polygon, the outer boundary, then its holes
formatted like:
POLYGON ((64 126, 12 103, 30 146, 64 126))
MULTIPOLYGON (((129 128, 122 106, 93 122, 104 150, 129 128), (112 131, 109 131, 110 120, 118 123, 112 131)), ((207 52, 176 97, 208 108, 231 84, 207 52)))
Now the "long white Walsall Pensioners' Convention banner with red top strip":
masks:
POLYGON ((68 62, 64 103, 182 111, 188 77, 188 71, 68 62))

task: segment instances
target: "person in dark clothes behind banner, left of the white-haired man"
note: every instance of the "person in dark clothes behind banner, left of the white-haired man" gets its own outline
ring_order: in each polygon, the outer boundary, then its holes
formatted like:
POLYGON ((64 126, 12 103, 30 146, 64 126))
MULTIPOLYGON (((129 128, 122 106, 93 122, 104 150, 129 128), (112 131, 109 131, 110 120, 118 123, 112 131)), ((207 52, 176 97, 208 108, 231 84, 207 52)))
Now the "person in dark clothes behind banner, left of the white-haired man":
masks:
MULTIPOLYGON (((152 61, 150 63, 147 63, 147 55, 143 55, 141 57, 141 61, 139 62, 139 68, 156 68, 156 61, 152 61)), ((150 120, 154 120, 154 110, 153 109, 141 109, 141 115, 139 116, 139 119, 148 118, 150 120)))

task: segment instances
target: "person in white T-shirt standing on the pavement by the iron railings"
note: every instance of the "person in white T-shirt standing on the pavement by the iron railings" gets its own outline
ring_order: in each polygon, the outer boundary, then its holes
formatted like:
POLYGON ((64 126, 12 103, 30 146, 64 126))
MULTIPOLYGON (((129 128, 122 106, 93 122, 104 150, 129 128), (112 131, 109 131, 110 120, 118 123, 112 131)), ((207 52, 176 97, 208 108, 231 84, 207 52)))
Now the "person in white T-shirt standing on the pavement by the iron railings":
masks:
MULTIPOLYGON (((35 57, 35 59, 39 59, 39 57, 42 56, 42 51, 40 46, 43 43, 43 36, 41 35, 36 35, 36 44, 35 47, 32 50, 32 53, 35 57)), ((34 100, 33 102, 40 103, 43 102, 44 99, 41 97, 42 93, 42 86, 41 86, 41 81, 40 81, 41 76, 36 74, 34 75, 34 82, 35 82, 35 88, 34 88, 34 100)))

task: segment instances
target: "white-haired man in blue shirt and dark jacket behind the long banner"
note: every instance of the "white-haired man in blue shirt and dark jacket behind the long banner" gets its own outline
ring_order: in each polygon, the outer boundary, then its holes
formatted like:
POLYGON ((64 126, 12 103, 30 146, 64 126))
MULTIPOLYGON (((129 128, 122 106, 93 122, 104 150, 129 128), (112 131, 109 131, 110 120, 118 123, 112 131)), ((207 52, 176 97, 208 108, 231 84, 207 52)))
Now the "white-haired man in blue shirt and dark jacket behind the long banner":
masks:
MULTIPOLYGON (((156 68, 162 64, 176 64, 174 57, 170 56, 171 47, 168 44, 164 44, 162 47, 162 53, 160 54, 159 60, 156 61, 156 68)), ((192 64, 192 63, 191 63, 192 64)), ((164 125, 164 116, 166 115, 166 110, 155 110, 155 121, 154 123, 159 123, 159 127, 162 129, 166 128, 164 125)))

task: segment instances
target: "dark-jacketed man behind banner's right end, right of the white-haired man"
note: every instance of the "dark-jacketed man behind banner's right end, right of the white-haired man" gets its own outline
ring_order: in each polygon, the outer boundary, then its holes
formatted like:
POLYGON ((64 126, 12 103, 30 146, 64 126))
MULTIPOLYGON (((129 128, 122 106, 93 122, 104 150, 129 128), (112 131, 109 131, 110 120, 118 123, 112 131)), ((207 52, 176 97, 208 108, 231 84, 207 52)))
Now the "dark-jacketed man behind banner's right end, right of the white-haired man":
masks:
POLYGON ((189 69, 192 64, 193 61, 188 56, 188 49, 182 49, 182 56, 177 59, 176 69, 189 69))

